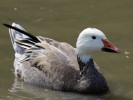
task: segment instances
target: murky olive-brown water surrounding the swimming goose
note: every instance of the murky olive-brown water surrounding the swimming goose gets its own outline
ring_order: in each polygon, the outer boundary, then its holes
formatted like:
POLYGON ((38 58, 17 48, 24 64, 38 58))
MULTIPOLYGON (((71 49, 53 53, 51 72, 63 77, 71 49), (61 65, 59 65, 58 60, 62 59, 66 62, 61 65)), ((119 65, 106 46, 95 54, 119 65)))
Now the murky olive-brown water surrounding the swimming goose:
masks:
POLYGON ((47 90, 15 79, 8 29, 0 25, 0 100, 133 100, 132 0, 0 0, 0 23, 19 23, 34 35, 75 47, 87 27, 102 30, 121 54, 95 54, 110 91, 82 95, 47 90))

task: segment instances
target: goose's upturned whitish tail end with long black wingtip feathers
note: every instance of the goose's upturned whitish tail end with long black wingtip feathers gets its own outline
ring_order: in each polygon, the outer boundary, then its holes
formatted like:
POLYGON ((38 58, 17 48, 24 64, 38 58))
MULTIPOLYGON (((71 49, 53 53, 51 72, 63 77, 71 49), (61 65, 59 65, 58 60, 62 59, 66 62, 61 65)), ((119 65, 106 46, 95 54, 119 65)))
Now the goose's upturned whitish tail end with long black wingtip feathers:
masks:
POLYGON ((12 25, 3 24, 9 28, 9 34, 15 53, 24 54, 25 50, 38 48, 35 43, 40 42, 36 36, 26 32, 23 27, 13 23, 12 25))

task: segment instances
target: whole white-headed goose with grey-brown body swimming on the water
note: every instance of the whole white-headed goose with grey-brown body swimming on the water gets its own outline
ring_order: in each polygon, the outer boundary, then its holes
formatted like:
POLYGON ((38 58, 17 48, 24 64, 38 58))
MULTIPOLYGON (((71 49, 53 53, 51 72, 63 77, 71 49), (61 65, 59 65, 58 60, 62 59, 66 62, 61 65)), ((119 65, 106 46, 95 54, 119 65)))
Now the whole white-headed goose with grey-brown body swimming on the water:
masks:
POLYGON ((76 48, 65 42, 34 36, 19 24, 3 24, 15 50, 14 73, 19 79, 42 88, 83 94, 101 94, 108 84, 93 54, 101 51, 119 53, 104 33, 86 28, 76 42, 76 48))

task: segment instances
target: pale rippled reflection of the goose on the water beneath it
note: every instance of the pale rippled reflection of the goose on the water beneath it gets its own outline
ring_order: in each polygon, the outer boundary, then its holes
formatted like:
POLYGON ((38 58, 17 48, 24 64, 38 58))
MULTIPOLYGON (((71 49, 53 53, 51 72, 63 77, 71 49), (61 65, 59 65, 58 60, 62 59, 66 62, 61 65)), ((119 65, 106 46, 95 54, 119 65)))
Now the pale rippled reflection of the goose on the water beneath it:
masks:
POLYGON ((11 89, 9 89, 10 96, 8 99, 25 99, 25 100, 104 100, 102 96, 82 95, 77 93, 54 91, 48 89, 42 89, 25 83, 15 78, 11 89))

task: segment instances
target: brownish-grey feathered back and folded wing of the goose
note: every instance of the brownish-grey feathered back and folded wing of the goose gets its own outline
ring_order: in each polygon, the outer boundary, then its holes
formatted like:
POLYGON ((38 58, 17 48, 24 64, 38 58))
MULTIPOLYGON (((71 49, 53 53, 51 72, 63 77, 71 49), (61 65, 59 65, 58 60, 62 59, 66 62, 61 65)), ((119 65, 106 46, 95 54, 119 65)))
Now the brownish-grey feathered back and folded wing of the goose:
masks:
POLYGON ((26 50, 20 72, 28 83, 62 90, 78 79, 76 51, 67 43, 38 36, 37 49, 26 50))

